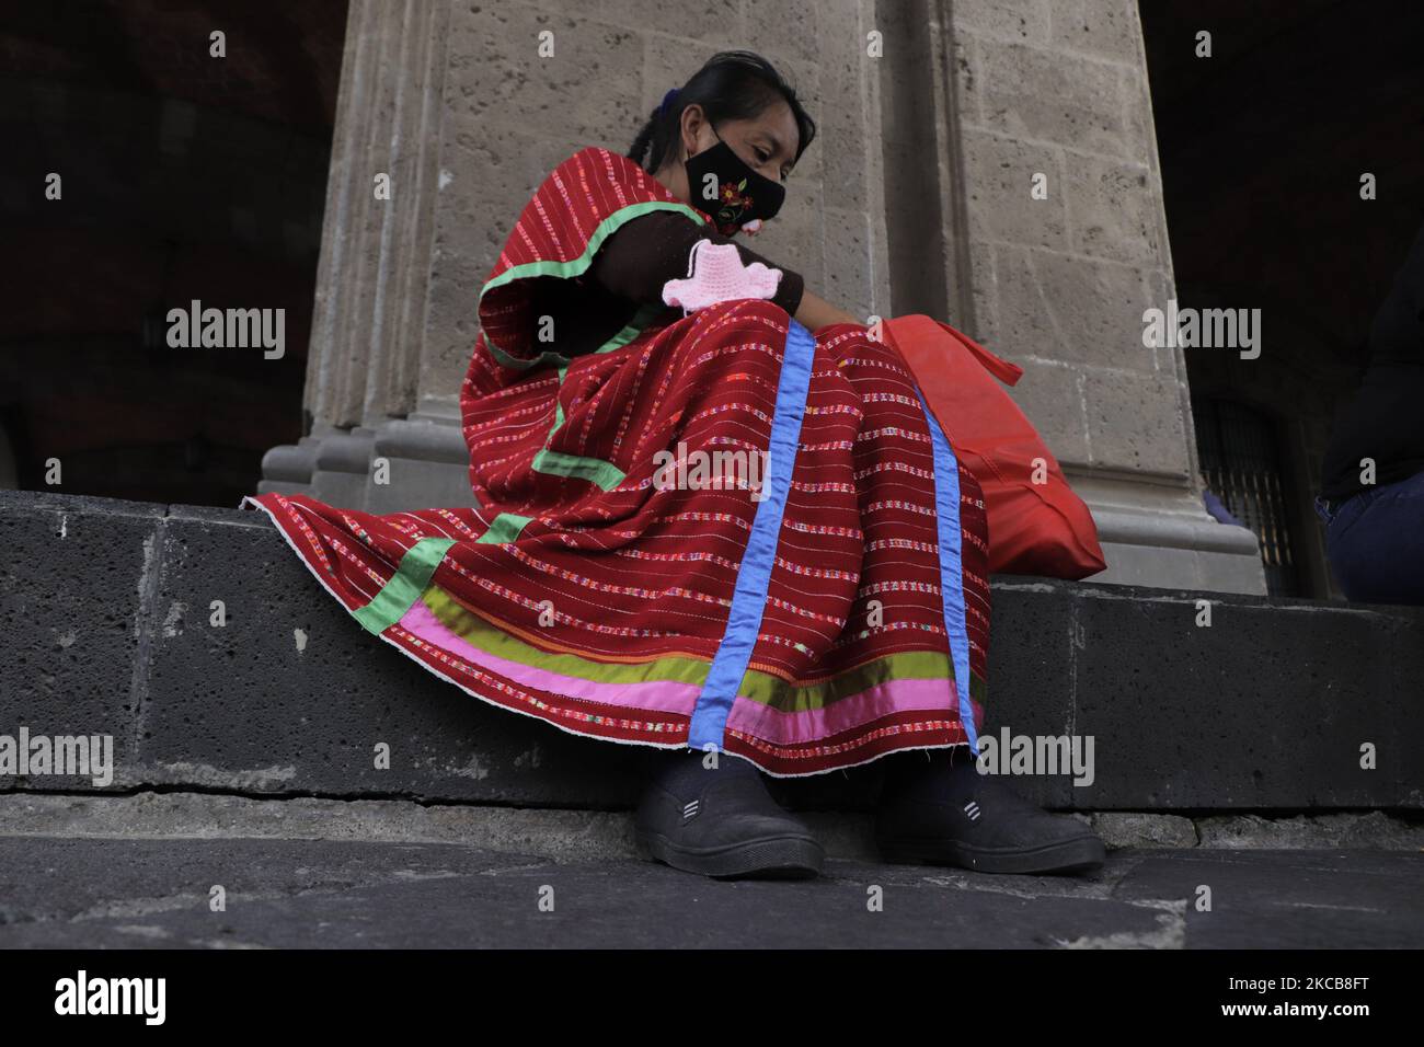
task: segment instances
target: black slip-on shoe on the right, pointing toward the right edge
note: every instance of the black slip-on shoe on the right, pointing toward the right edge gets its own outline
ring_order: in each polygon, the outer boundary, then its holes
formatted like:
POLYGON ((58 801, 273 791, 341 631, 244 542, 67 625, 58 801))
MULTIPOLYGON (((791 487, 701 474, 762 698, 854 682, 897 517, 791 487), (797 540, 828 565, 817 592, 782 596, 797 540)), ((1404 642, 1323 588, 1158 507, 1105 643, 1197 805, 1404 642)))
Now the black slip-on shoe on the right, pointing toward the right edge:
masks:
POLYGON ((1034 806, 971 758, 918 752, 886 776, 876 840, 887 862, 954 865, 990 873, 1065 873, 1106 860, 1102 840, 1075 818, 1034 806))

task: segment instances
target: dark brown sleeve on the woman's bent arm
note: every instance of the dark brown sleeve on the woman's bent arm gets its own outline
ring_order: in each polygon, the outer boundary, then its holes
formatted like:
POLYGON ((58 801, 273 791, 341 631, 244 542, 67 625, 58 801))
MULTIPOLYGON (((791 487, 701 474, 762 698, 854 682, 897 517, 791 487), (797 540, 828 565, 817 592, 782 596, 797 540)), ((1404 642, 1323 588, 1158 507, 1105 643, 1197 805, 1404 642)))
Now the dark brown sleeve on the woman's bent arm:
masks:
POLYGON ((800 274, 762 258, 711 226, 698 225, 675 211, 654 211, 634 218, 604 241, 588 266, 588 275, 604 291, 639 303, 661 303, 662 285, 688 275, 688 258, 699 239, 732 244, 742 255, 742 265, 760 262, 780 269, 782 279, 772 301, 789 315, 800 308, 806 282, 800 274))

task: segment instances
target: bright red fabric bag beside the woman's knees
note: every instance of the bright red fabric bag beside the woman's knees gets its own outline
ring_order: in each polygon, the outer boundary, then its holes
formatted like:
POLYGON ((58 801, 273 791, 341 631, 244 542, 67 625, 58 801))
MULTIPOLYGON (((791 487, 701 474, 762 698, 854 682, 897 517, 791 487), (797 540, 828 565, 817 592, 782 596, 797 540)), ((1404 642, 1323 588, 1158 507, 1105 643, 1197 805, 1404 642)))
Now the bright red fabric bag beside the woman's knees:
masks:
POLYGON ((990 571, 1085 578, 1104 570, 1092 513, 1038 430, 994 382, 1017 385, 1024 369, 931 316, 896 316, 881 329, 984 489, 990 571), (1035 459, 1042 460, 1042 483, 1032 481, 1035 459))

